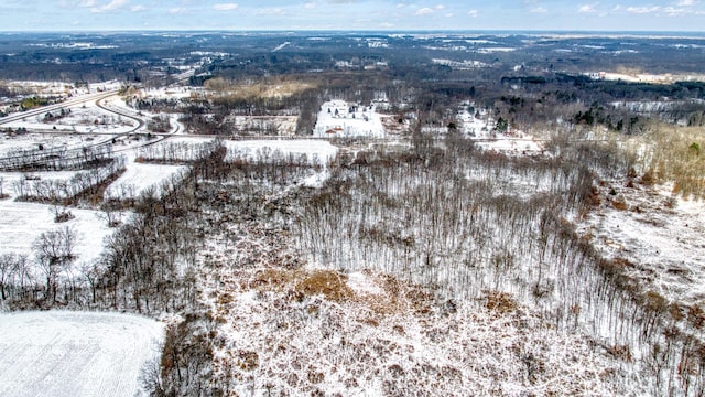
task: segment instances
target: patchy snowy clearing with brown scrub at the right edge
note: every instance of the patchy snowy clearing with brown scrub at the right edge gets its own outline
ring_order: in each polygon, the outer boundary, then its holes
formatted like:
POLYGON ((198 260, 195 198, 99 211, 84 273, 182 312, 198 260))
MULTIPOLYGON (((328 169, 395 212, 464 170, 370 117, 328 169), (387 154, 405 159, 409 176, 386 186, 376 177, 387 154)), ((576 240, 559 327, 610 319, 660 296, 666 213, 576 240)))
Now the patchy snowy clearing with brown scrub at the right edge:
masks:
POLYGON ((606 257, 626 259, 622 270, 643 291, 705 305, 705 203, 675 197, 668 186, 618 182, 601 186, 599 197, 579 232, 606 257))

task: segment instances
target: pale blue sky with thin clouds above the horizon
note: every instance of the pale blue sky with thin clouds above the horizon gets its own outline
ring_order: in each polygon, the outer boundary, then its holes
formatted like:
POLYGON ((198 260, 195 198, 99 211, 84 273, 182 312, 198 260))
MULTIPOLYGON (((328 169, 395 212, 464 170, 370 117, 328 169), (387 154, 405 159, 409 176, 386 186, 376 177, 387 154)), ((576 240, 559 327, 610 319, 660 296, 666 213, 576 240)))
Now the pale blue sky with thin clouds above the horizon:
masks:
POLYGON ((0 0, 1 31, 705 31, 705 0, 0 0))

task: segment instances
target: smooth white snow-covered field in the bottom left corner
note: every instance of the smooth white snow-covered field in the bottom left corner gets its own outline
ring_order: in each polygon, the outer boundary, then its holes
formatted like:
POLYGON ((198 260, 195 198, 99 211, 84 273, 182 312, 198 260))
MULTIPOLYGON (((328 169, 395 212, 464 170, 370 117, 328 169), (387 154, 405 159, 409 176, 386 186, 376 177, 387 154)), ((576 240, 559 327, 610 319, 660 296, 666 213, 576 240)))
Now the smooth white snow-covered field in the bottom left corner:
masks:
POLYGON ((0 396, 141 396, 142 366, 159 354, 163 326, 135 315, 0 314, 0 396))

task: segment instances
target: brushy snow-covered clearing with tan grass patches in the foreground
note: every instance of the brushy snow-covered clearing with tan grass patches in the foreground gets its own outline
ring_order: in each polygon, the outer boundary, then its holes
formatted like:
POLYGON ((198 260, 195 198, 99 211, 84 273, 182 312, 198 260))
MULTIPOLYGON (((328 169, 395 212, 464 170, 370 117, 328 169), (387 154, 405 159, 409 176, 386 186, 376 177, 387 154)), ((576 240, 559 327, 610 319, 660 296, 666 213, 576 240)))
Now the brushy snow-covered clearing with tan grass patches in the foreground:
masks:
POLYGON ((620 394, 615 368, 588 341, 510 301, 442 313, 386 276, 224 270, 216 376, 238 379, 238 395, 620 394))

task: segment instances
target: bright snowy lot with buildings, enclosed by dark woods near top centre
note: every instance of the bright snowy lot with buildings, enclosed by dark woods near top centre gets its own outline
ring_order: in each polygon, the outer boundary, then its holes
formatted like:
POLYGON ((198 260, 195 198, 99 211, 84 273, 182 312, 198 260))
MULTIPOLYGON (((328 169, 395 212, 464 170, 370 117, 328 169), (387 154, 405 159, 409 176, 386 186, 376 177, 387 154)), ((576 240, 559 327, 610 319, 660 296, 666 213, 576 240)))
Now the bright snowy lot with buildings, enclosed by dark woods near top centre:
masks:
POLYGON ((345 100, 323 104, 313 135, 318 138, 386 137, 373 106, 357 106, 345 100))

